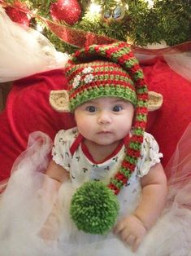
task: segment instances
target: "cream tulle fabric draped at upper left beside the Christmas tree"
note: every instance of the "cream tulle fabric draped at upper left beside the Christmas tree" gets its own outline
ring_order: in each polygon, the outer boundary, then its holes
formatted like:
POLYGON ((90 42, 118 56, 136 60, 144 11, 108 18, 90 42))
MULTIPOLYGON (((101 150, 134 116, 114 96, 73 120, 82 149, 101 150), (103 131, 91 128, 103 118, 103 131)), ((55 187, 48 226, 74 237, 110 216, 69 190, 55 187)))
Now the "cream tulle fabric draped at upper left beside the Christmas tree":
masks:
POLYGON ((1 5, 0 56, 0 82, 63 68, 68 60, 41 33, 12 22, 1 5))

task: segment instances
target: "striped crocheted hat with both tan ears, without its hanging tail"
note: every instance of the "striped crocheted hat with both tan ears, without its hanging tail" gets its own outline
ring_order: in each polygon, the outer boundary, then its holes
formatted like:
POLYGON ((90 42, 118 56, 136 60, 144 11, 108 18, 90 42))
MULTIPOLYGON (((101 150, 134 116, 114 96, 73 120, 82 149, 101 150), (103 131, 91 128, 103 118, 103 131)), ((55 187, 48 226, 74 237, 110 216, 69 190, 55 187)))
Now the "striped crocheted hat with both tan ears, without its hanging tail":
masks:
MULTIPOLYGON (((124 42, 93 45, 76 51, 68 61, 65 73, 67 90, 50 92, 50 105, 59 112, 73 112, 87 100, 108 96, 138 105, 137 95, 145 96, 143 73, 130 47, 124 42)), ((148 94, 149 111, 160 108, 163 96, 154 91, 148 94)))

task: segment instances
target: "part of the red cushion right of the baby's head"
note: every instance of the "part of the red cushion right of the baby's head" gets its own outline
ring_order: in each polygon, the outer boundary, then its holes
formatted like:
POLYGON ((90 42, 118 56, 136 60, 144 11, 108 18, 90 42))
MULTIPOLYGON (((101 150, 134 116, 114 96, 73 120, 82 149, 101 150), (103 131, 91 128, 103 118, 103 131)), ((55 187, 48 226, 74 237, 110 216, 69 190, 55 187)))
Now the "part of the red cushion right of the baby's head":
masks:
POLYGON ((142 66, 149 90, 163 95, 163 106, 149 114, 147 131, 157 139, 167 165, 176 144, 191 121, 191 82, 168 67, 163 58, 142 66))

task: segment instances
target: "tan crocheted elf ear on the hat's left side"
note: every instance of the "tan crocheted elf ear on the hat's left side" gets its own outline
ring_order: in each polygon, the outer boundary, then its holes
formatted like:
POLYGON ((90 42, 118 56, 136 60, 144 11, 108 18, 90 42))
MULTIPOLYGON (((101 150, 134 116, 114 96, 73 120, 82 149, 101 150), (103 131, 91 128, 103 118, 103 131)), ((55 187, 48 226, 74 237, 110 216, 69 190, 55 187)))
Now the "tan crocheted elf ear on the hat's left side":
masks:
POLYGON ((67 90, 51 90, 49 102, 51 107, 58 112, 70 112, 67 90))

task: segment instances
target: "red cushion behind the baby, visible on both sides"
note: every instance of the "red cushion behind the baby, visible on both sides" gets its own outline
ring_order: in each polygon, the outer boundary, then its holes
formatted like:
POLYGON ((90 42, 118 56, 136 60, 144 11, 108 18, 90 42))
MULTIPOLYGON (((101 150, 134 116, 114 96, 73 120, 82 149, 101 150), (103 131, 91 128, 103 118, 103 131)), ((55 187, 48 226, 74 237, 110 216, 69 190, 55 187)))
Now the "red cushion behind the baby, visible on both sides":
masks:
MULTIPOLYGON (((163 107, 149 114, 147 130, 157 139, 166 166, 191 121, 191 83, 168 67, 163 58, 141 64, 148 87, 163 95, 163 107)), ((7 108, 0 115, 0 180, 27 146, 28 135, 41 130, 54 139, 60 129, 75 126, 69 113, 56 113, 49 105, 50 90, 66 88, 63 70, 37 73, 14 82, 7 108)))

